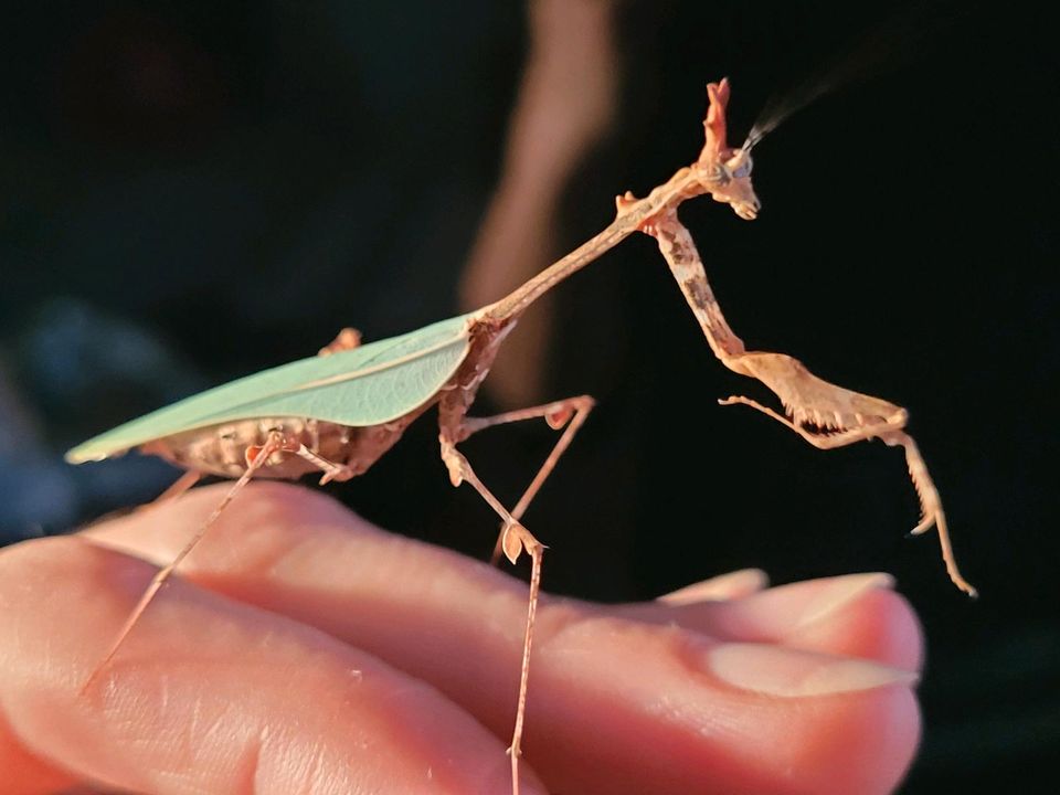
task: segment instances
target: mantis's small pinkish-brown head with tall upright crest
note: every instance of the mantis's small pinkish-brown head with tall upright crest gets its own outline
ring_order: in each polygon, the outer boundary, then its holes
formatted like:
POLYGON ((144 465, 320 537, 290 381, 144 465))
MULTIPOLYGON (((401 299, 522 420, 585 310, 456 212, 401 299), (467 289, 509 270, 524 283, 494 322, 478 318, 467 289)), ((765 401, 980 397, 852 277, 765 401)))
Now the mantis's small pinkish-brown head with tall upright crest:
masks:
POLYGON ((754 194, 751 184, 751 147, 731 149, 725 144, 725 105, 729 103, 729 78, 721 83, 709 83, 707 95, 710 108, 703 128, 707 142, 700 152, 697 166, 703 171, 703 190, 714 201, 732 205, 733 211, 744 221, 757 218, 762 202, 754 194))

